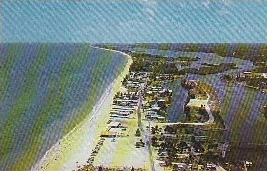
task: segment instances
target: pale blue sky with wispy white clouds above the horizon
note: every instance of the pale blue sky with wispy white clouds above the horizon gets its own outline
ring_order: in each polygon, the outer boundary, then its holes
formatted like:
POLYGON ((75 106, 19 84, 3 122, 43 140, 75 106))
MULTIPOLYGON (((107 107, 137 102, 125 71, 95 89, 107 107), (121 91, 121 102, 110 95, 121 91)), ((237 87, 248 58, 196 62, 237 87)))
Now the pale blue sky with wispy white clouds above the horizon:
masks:
POLYGON ((1 42, 267 43, 267 1, 0 1, 1 42))

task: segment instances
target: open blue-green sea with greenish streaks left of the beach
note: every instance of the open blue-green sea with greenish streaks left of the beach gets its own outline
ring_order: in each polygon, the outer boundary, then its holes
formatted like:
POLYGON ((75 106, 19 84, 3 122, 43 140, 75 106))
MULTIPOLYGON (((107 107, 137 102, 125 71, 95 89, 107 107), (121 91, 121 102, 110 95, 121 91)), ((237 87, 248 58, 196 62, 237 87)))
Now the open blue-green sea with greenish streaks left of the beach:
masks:
POLYGON ((29 169, 127 63, 89 43, 1 43, 0 54, 0 170, 29 169))

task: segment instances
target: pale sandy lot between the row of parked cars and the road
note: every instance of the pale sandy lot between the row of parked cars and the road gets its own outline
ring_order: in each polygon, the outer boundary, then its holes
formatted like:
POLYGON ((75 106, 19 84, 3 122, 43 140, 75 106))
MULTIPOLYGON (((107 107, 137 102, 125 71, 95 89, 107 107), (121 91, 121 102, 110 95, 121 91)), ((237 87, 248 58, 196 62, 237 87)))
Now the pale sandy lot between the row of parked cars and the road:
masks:
POLYGON ((136 148, 135 143, 144 140, 144 137, 136 137, 135 133, 138 128, 136 119, 116 118, 123 126, 128 126, 129 136, 116 138, 116 142, 111 142, 111 138, 106 138, 99 153, 93 162, 94 166, 103 165, 104 167, 129 167, 148 169, 148 150, 147 147, 136 148))

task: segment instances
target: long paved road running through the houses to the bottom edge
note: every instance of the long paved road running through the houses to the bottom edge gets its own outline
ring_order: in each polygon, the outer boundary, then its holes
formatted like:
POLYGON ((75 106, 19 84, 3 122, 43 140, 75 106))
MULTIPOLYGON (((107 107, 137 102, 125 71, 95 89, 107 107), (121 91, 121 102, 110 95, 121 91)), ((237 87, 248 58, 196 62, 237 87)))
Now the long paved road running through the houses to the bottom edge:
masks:
POLYGON ((141 90, 138 92, 138 96, 139 96, 139 105, 137 108, 137 116, 138 116, 138 127, 141 130, 144 138, 145 138, 145 144, 148 148, 148 153, 149 153, 149 160, 150 160, 150 164, 151 164, 151 170, 155 171, 155 166, 154 166, 154 160, 153 160, 153 156, 152 156, 152 151, 151 151, 151 139, 150 139, 150 135, 144 130, 143 128, 143 124, 142 124, 142 116, 141 116, 141 106, 143 104, 143 97, 142 97, 142 90, 146 85, 146 81, 145 84, 143 85, 143 87, 141 88, 141 90))

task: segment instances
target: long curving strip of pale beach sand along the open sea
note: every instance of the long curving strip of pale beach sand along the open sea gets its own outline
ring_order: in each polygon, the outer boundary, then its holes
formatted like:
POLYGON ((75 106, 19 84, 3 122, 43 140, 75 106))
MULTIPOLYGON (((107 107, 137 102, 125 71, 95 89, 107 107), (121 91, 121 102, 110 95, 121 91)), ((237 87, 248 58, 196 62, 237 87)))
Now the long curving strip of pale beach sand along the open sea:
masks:
POLYGON ((105 129, 103 122, 106 122, 109 118, 108 111, 113 102, 113 96, 120 90, 121 80, 128 73, 132 58, 130 55, 121 51, 91 45, 90 47, 123 54, 127 57, 127 63, 123 71, 106 88, 106 91, 94 105, 90 114, 55 143, 31 170, 76 170, 78 165, 86 162, 88 154, 92 151, 96 143, 97 137, 105 129), (95 109, 96 106, 99 106, 99 108, 95 109), (90 133, 88 134, 88 132, 90 133), (85 134, 88 134, 88 136, 85 136, 85 134))

